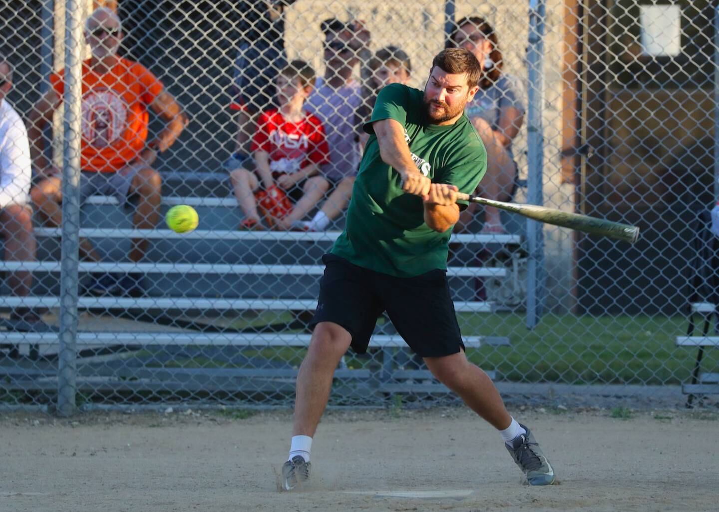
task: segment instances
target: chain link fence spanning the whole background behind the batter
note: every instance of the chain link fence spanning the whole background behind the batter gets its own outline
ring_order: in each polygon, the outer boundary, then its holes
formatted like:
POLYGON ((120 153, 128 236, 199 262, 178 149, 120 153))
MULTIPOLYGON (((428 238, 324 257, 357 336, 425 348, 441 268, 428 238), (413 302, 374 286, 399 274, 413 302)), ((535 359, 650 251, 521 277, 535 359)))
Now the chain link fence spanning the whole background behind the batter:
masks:
MULTIPOLYGON (((500 388, 713 403, 716 2, 97 4, 0 7, 1 408, 290 405, 362 122, 386 83, 423 88, 446 45, 485 67, 466 111, 484 196, 642 230, 629 246, 463 214, 448 275, 470 360, 500 388), (165 226, 179 204, 198 229, 165 226)), ((400 399, 452 396, 382 316, 331 401, 400 399)))

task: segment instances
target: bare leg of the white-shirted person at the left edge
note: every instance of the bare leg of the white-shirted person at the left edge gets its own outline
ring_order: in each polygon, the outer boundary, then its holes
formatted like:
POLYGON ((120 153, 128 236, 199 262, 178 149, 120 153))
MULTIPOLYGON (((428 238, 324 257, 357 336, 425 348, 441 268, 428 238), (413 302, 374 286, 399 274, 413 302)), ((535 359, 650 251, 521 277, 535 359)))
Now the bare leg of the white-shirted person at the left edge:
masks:
MULTIPOLYGON (((35 261, 36 244, 29 208, 11 204, 0 209, 0 232, 5 238, 6 261, 35 261)), ((27 270, 10 273, 8 284, 14 295, 27 297, 32 273, 27 270)))

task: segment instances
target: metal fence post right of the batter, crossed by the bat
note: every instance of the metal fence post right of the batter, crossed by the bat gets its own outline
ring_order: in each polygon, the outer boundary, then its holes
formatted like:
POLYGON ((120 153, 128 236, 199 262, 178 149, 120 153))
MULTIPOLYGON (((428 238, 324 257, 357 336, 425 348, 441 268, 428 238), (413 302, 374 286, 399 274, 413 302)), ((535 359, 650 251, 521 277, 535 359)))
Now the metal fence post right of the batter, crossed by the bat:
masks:
MULTIPOLYGON (((529 45, 527 47, 527 202, 543 204, 542 189, 544 163, 544 132, 542 131, 542 101, 544 101, 544 0, 529 0, 529 45)), ((544 293, 544 234, 542 224, 527 219, 529 252, 527 275, 528 329, 539 322, 541 298, 544 293)))

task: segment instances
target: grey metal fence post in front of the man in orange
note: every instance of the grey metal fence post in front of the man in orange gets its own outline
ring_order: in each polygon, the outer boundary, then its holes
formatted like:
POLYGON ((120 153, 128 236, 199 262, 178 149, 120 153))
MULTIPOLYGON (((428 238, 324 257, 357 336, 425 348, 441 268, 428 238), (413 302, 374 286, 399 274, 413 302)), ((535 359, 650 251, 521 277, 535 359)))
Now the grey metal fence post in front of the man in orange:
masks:
POLYGON ((65 4, 65 119, 63 122, 63 239, 60 274, 58 413, 75 412, 80 235, 80 142, 82 95, 81 0, 65 4))

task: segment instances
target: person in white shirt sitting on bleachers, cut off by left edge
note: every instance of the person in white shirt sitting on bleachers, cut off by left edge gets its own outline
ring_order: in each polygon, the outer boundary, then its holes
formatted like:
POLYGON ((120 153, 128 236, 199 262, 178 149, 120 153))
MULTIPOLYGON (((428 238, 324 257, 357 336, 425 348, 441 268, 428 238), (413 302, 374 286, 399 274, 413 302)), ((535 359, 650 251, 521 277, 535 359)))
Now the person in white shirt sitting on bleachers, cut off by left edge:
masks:
MULTIPOLYGON (((5 96, 12 88, 12 66, 0 55, 0 234, 5 239, 5 261, 35 261, 35 235, 32 233, 32 208, 29 204, 30 150, 27 129, 5 96)), ((27 297, 32 273, 9 273, 11 293, 27 297)), ((18 307, 10 313, 9 328, 17 331, 46 330, 32 308, 18 307)))

